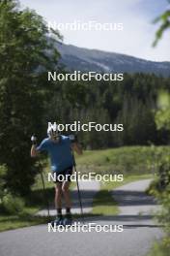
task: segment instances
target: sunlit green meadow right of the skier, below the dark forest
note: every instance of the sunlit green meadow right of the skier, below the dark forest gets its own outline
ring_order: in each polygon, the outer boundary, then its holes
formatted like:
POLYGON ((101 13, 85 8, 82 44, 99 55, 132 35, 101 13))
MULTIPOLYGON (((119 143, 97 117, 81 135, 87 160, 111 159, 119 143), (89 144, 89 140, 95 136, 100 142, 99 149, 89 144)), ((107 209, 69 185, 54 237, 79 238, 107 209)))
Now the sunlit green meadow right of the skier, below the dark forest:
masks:
POLYGON ((154 148, 153 146, 123 146, 105 150, 88 150, 76 157, 77 170, 98 174, 156 174, 159 162, 165 154, 168 155, 167 146, 154 148))

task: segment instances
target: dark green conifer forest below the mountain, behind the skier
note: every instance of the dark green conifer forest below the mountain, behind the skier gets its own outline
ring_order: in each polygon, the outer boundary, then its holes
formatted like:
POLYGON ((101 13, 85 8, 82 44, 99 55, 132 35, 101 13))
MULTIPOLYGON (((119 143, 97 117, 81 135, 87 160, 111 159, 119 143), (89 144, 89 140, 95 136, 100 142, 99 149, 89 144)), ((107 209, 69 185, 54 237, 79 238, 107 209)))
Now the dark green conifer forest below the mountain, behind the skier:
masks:
MULTIPOLYGON (((168 144, 166 129, 157 131, 157 95, 169 89, 169 79, 155 75, 125 74, 123 81, 57 81, 51 87, 44 120, 59 123, 122 123, 123 133, 78 133, 91 149, 132 144, 168 144)), ((45 123, 44 123, 45 126, 45 123)))

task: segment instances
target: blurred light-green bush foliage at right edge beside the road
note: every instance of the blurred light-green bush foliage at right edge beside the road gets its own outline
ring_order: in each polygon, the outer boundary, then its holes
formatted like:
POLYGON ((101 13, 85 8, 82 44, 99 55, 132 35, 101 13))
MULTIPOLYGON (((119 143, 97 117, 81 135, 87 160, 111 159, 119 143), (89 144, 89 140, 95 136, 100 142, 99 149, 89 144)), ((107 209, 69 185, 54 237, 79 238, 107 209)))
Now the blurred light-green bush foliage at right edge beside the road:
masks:
MULTIPOLYGON (((170 130, 170 95, 167 91, 161 91, 157 100, 156 126, 157 129, 170 130)), ((162 206, 157 213, 157 219, 163 225, 166 232, 165 238, 155 245, 152 255, 169 255, 170 251, 170 157, 163 154, 159 159, 156 182, 152 189, 159 204, 162 206)))

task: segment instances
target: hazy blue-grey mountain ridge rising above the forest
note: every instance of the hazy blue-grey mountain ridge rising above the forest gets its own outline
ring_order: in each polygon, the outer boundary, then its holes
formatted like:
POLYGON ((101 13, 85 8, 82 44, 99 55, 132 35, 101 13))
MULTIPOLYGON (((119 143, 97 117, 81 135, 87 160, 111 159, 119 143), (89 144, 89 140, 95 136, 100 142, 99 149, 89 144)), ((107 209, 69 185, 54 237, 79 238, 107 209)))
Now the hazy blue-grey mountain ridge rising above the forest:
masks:
POLYGON ((170 76, 170 62, 154 62, 125 54, 107 52, 98 49, 77 48, 71 45, 59 44, 60 62, 69 70, 96 71, 105 73, 155 73, 165 77, 170 76))

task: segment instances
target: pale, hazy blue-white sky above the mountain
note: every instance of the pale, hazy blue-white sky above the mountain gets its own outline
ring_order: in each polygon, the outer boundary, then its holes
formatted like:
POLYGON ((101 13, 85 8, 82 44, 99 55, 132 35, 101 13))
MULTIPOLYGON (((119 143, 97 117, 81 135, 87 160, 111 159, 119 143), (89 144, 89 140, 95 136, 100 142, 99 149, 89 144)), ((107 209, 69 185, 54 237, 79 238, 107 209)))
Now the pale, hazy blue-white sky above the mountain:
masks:
POLYGON ((95 20, 124 24, 123 31, 62 30, 65 44, 170 61, 170 30, 164 33, 156 48, 152 47, 157 29, 153 20, 168 8, 167 0, 20 0, 20 4, 51 22, 95 20))

